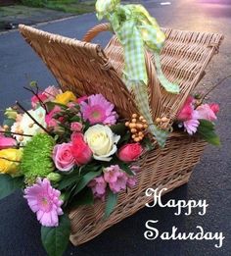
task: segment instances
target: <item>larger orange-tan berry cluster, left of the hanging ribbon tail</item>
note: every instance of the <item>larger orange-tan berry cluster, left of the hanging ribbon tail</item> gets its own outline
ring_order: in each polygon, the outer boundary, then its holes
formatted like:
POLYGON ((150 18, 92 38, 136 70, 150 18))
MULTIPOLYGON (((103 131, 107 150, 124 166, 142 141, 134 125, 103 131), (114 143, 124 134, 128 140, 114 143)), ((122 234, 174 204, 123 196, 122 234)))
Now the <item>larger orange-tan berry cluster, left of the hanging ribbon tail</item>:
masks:
POLYGON ((131 117, 131 122, 126 122, 125 126, 130 129, 132 139, 135 142, 139 142, 144 138, 148 124, 142 116, 139 117, 137 114, 133 114, 131 117))

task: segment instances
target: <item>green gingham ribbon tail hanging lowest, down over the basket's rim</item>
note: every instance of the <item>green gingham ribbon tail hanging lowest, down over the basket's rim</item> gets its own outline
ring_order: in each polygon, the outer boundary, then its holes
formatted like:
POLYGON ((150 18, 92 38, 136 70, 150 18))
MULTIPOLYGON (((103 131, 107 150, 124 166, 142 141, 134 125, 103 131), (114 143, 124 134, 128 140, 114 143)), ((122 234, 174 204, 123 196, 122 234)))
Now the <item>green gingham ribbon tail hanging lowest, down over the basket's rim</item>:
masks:
POLYGON ((163 147, 168 135, 168 131, 162 130, 153 124, 153 119, 151 115, 152 112, 149 106, 149 95, 147 85, 144 83, 139 83, 135 85, 133 84, 132 89, 135 95, 135 100, 139 111, 145 117, 148 124, 152 124, 149 126, 149 130, 156 137, 159 145, 163 147))

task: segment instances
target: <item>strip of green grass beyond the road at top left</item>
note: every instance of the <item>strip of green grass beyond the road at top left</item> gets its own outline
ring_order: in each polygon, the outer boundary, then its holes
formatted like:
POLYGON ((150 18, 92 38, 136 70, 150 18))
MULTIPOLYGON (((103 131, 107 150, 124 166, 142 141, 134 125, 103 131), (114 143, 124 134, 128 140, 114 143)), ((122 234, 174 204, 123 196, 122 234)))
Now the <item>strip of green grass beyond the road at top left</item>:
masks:
POLYGON ((73 14, 84 14, 95 11, 95 0, 79 2, 78 0, 22 0, 23 5, 43 7, 73 14))

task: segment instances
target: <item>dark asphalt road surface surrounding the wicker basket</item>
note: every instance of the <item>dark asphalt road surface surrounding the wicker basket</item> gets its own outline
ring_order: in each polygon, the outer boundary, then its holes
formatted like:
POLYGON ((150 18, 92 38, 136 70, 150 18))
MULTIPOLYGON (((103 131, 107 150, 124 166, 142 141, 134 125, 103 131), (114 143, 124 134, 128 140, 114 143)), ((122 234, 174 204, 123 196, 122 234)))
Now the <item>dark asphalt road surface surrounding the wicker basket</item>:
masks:
MULTIPOLYGON (((219 78, 231 75, 231 1, 228 0, 178 0, 170 6, 161 6, 157 1, 144 1, 146 7, 162 26, 179 29, 219 32, 225 40, 218 56, 208 68, 203 82, 214 83, 219 78)), ((47 31, 81 38, 84 32, 97 24, 94 14, 71 18, 66 21, 41 25, 47 31)), ((102 34, 96 42, 105 45, 110 34, 102 34)), ((46 67, 31 51, 18 31, 0 34, 0 108, 16 99, 26 101, 29 95, 23 91, 28 79, 37 80, 46 87, 55 83, 46 67)), ((77 68, 77 67, 76 67, 77 68)), ((231 80, 226 80, 215 89, 210 100, 220 104, 217 124, 222 147, 208 146, 201 163, 188 185, 181 186, 163 200, 206 199, 209 206, 206 216, 193 212, 190 216, 176 217, 170 208, 143 209, 134 216, 115 225, 110 230, 79 247, 69 245, 66 255, 84 256, 228 256, 231 255, 231 80), (214 247, 214 241, 187 240, 148 241, 144 238, 145 222, 159 220, 157 228, 170 231, 173 226, 181 231, 195 231, 202 226, 205 231, 222 231, 223 246, 214 247)), ((0 202, 0 255, 43 256, 40 243, 40 228, 34 215, 26 206, 22 194, 13 194, 0 202)))

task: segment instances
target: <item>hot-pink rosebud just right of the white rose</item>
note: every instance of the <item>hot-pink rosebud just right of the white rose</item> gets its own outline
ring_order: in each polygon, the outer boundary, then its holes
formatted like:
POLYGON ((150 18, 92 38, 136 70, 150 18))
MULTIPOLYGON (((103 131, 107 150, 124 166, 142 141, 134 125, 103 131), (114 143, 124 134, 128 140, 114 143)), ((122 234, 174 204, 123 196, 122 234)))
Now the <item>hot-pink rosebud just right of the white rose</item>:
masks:
POLYGON ((137 160, 143 152, 140 143, 130 143, 122 146, 118 150, 118 158, 123 162, 131 162, 137 160))

